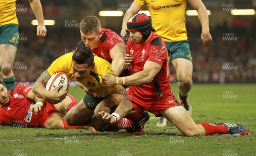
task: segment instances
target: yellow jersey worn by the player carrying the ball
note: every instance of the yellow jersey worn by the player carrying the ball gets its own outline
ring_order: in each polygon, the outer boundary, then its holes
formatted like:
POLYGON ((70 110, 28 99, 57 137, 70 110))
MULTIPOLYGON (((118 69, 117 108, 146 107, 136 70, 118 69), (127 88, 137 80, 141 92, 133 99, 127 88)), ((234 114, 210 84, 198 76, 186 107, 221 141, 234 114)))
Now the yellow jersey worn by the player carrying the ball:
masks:
MULTIPOLYGON (((57 72, 65 72, 69 78, 74 78, 72 71, 73 54, 74 52, 67 53, 52 62, 51 66, 48 68, 49 74, 54 75, 57 72)), ((94 63, 95 66, 90 71, 90 75, 87 78, 84 78, 83 81, 79 81, 79 83, 92 90, 96 90, 99 87, 106 87, 109 92, 120 87, 120 85, 108 87, 105 85, 104 81, 102 81, 101 76, 105 76, 106 74, 115 75, 111 69, 111 64, 109 64, 108 61, 94 55, 94 63)))

